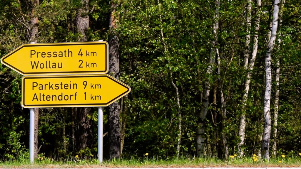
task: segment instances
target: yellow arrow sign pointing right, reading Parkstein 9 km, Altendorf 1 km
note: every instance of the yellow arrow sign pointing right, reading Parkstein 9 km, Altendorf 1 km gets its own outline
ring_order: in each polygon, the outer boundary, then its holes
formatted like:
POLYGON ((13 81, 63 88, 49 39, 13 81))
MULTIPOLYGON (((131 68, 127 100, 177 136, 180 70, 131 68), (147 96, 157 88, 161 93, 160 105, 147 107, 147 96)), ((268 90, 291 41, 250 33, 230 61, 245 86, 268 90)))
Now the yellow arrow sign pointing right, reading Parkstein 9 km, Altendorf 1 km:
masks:
POLYGON ((110 75, 24 76, 22 106, 108 106, 131 88, 110 75))

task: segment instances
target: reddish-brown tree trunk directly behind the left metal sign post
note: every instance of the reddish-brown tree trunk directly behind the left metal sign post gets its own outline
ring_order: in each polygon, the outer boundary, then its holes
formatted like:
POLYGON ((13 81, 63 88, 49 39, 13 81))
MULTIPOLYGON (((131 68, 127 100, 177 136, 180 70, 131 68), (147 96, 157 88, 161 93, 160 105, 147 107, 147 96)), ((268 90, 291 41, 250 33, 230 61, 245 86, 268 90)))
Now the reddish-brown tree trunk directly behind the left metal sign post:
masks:
MULTIPOLYGON (((39 0, 32 0, 32 9, 30 13, 30 33, 29 41, 37 43, 39 19, 36 17, 36 7, 39 0)), ((35 108, 35 130, 34 130, 34 158, 38 157, 38 131, 39 131, 39 108, 35 108)))

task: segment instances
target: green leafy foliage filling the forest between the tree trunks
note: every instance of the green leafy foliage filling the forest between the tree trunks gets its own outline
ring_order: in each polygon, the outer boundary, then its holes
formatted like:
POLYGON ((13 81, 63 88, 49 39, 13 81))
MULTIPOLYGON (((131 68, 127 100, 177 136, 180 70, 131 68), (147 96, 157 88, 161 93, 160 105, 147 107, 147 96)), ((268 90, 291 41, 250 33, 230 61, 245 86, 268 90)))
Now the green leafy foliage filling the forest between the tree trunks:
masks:
MULTIPOLYGON (((39 19, 38 43, 74 42, 79 38, 75 31, 76 10, 79 0, 43 0, 36 7, 39 19)), ((23 43, 28 43, 29 1, 5 0, 0 6, 0 55, 8 54, 23 43)), ((239 118, 244 107, 242 96, 246 71, 243 55, 246 26, 245 1, 221 1, 218 29, 220 75, 217 63, 213 73, 207 75, 209 53, 213 38, 215 1, 210 0, 120 0, 117 2, 117 35, 119 36, 120 80, 132 91, 123 101, 126 106, 121 118, 126 122, 123 157, 141 158, 149 164, 154 158, 172 158, 179 138, 179 114, 175 88, 179 91, 182 115, 182 156, 196 154, 198 116, 202 109, 203 84, 211 84, 209 112, 206 117, 206 153, 222 157, 222 134, 226 134, 230 153, 237 151, 239 118), (220 79, 219 79, 220 78, 220 79), (220 81, 218 81, 218 79, 220 81), (172 80, 172 82, 171 82, 172 80), (226 117, 222 121, 220 91, 226 101, 226 117), (213 95, 216 92, 216 103, 213 95), (216 147, 216 150, 214 150, 216 147), (216 151, 216 152, 214 152, 216 151), (145 153, 149 153, 145 159, 145 153), (154 157, 154 158, 152 158, 154 157)), ((254 1, 255 3, 255 1, 254 1)), ((246 141, 243 149, 252 154, 260 148, 262 135, 262 97, 264 91, 264 56, 270 12, 270 1, 262 2, 258 54, 246 101, 246 141)), ((111 1, 89 1, 89 41, 108 39, 111 1)), ((280 106, 278 115, 278 154, 301 151, 300 112, 300 7, 298 1, 286 1, 283 23, 279 26, 281 44, 272 56, 274 79, 275 56, 280 57, 280 106), (287 147, 287 145, 292 145, 287 147)), ((254 4, 253 4, 254 7, 254 4)), ((254 9, 255 10, 255 9, 254 9)), ((251 36, 254 34, 252 11, 251 36)), ((253 45, 251 41, 250 45, 253 45)), ((0 159, 28 157, 28 109, 20 106, 21 75, 0 64, 0 159), (24 144, 25 143, 25 144, 24 144)), ((275 86, 275 84, 273 84, 275 86)), ((274 95, 274 88, 272 95, 274 95)), ((272 96, 273 98, 273 96, 272 96)), ((273 100, 272 100, 273 103, 273 100)), ((271 111, 274 108, 272 107, 271 111)), ((39 163, 59 159, 74 161, 77 154, 96 158, 98 112, 92 110, 88 118, 92 125, 92 147, 75 150, 73 129, 76 121, 71 108, 40 109, 39 163), (95 155, 95 156, 92 156, 95 155), (72 157, 72 158, 70 158, 72 157), (47 159, 47 160, 45 160, 47 159)), ((108 131, 107 112, 104 110, 104 133, 108 131)), ((104 136, 104 145, 108 143, 104 136)), ((104 147, 105 147, 104 146, 104 147)), ((107 149, 104 149, 107 152, 107 149)), ((104 153, 106 154, 106 153, 104 153)), ((201 160, 201 159, 198 159, 201 160)), ((250 159, 248 159, 250 160, 250 159)), ((227 161, 236 164, 239 160, 227 161)), ((79 162, 79 160, 77 161, 79 162)), ((115 161, 118 163, 118 161, 115 161)))

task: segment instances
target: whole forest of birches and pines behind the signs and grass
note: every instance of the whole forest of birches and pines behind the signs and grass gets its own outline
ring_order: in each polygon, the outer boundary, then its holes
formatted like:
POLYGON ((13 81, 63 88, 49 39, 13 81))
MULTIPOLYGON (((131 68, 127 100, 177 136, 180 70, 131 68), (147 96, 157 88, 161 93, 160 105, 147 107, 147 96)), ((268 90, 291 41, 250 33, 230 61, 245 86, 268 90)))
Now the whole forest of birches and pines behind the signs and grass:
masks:
MULTIPOLYGON (((109 74, 132 88, 104 109, 109 159, 298 155, 300 29, 298 0, 0 1, 1 57, 23 43, 108 41, 109 74)), ((21 78, 0 64, 3 160, 29 149, 21 78)), ((97 108, 35 112, 36 157, 97 158, 97 108)))

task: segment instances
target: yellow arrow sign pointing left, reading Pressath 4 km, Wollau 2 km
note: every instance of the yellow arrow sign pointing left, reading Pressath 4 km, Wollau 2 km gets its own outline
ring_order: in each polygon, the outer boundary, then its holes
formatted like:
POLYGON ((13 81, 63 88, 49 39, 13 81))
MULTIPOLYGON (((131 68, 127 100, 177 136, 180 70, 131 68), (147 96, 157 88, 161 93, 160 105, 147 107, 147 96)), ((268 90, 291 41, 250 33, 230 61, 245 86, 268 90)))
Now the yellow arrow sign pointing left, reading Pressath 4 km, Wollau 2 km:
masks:
POLYGON ((1 62, 22 75, 107 73, 108 43, 23 44, 1 62))

